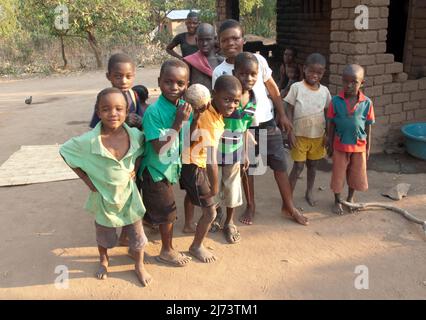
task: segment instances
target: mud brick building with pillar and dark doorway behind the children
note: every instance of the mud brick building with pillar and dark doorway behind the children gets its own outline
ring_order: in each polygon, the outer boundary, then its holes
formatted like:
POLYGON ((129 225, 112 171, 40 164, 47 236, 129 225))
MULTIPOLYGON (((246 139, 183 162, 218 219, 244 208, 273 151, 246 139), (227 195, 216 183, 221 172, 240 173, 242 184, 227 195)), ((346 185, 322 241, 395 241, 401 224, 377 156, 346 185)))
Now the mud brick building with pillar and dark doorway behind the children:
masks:
MULTIPOLYGON (((238 5, 217 0, 219 23, 238 19, 238 5)), ((299 62, 324 54, 332 94, 345 64, 365 67, 364 91, 376 111, 373 151, 398 145, 403 124, 426 121, 426 0, 277 0, 277 44, 281 52, 295 47, 299 62), (359 5, 368 8, 367 29, 355 27, 359 5)))

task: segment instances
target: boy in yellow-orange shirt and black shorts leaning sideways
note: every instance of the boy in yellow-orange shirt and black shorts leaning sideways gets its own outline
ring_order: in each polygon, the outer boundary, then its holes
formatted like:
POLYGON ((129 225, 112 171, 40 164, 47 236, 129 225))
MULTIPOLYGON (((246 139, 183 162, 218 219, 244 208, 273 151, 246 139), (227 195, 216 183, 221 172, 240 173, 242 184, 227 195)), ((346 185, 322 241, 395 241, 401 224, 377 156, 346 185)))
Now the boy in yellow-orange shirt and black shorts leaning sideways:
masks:
POLYGON ((195 130, 191 130, 191 146, 186 150, 189 156, 183 158, 181 188, 186 190, 185 198, 202 210, 189 252, 205 263, 216 260, 213 253, 203 246, 203 240, 216 216, 215 196, 219 191, 216 157, 225 127, 223 117, 234 112, 240 99, 241 84, 237 78, 225 75, 217 79, 211 104, 204 110, 194 110, 191 127, 195 130))

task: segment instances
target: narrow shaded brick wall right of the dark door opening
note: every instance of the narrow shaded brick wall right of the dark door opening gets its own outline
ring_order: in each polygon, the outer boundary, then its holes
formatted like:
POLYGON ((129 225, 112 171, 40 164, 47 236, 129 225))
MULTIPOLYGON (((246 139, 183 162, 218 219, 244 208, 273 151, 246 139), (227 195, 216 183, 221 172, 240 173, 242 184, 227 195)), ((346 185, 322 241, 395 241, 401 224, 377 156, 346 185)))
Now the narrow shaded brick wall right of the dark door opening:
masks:
POLYGON ((409 78, 426 76, 426 1, 411 0, 404 52, 404 71, 409 78))

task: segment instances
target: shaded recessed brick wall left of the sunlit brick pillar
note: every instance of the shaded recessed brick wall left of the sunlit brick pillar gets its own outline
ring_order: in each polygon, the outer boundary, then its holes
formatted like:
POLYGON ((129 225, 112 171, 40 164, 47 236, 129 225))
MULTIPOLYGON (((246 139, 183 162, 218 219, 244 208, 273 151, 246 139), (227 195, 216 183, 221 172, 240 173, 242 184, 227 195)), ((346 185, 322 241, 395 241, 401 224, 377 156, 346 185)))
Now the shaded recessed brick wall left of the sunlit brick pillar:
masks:
MULTIPOLYGON (((303 63, 313 53, 330 54, 331 0, 278 0, 277 44, 281 50, 291 46, 298 50, 303 63)), ((328 83, 328 74, 324 78, 328 83)))

